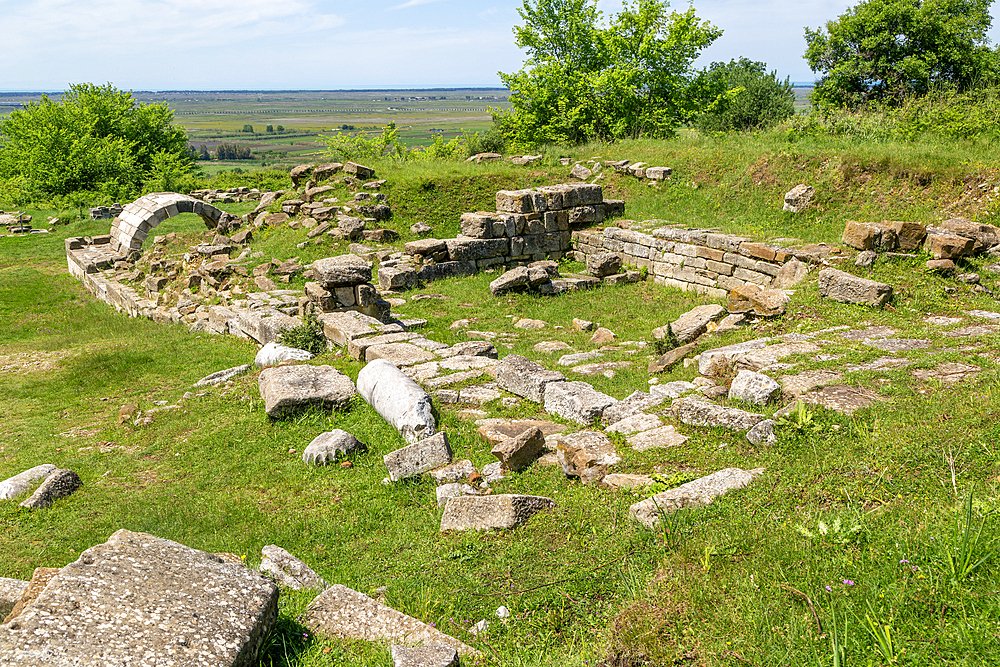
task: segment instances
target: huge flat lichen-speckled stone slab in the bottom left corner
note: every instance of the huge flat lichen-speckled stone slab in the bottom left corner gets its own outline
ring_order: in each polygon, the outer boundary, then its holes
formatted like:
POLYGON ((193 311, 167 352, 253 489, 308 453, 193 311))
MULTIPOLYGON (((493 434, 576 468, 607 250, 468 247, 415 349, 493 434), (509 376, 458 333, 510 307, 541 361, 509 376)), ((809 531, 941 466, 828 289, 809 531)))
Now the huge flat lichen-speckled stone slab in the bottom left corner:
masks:
POLYGON ((277 616, 260 573, 120 530, 0 626, 0 664, 255 667, 277 616))

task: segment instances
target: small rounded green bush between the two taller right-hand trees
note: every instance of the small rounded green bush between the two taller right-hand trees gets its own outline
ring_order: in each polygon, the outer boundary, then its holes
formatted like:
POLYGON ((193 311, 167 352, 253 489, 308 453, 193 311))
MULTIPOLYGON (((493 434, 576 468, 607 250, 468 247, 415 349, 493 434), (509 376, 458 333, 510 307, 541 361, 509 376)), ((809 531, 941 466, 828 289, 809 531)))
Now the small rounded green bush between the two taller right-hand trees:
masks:
POLYGON ((707 132, 747 131, 770 127, 795 113, 795 91, 786 77, 748 58, 712 63, 708 76, 720 93, 713 107, 697 118, 707 132))

